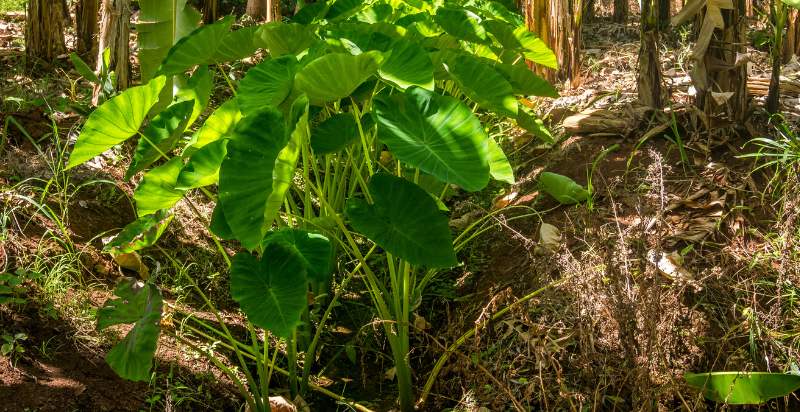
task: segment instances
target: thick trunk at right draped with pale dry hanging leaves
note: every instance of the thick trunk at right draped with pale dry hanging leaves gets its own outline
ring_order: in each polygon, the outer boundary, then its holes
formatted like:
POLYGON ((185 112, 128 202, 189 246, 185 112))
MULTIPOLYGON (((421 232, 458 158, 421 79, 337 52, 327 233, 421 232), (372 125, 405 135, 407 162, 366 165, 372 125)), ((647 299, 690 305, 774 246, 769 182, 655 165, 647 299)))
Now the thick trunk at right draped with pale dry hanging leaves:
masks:
MULTIPOLYGON (((729 3, 731 4, 731 3, 729 3)), ((688 2, 686 7, 691 7, 688 2)), ((747 24, 745 0, 733 0, 731 9, 709 4, 695 23, 697 46, 692 80, 696 104, 716 126, 740 127, 747 117, 747 24)))

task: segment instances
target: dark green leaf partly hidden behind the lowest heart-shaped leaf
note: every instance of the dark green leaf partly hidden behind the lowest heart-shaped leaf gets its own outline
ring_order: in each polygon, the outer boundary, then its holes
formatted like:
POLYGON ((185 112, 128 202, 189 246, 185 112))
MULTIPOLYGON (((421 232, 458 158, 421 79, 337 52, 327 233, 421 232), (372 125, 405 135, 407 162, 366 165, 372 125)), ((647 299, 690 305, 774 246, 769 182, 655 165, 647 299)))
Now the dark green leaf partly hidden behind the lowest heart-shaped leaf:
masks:
POLYGON ((319 283, 328 281, 333 249, 327 237, 300 229, 281 229, 267 234, 263 249, 267 250, 272 243, 281 243, 297 253, 305 263, 309 280, 319 283))

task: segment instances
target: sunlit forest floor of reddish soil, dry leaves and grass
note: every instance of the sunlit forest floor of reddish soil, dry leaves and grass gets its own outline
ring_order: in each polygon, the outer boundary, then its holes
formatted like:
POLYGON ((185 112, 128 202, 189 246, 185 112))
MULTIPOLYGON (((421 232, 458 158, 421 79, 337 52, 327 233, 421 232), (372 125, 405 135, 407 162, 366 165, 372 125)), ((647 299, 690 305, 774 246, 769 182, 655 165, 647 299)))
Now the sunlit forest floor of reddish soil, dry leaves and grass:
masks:
MULTIPOLYGON (((100 250, 134 219, 134 186, 115 153, 63 171, 90 91, 66 58, 28 74, 21 24, 0 16, 0 273, 19 270, 31 280, 24 302, 0 306, 0 335, 17 335, 24 349, 0 358, 0 410, 239 410, 230 382, 168 337, 148 383, 125 382, 104 362, 120 330, 98 332, 94 314, 123 273, 100 250)), ((662 44, 673 106, 637 110, 638 29, 602 21, 584 32, 580 84, 555 101, 532 102, 557 143, 509 133, 502 144, 518 183, 452 200, 454 227, 496 212, 498 229, 463 251, 465 265, 439 276, 417 310, 418 387, 445 346, 475 331, 445 364, 424 410, 713 409, 683 383, 684 373, 787 370, 800 348, 800 256, 787 223, 797 183, 772 169, 754 172, 755 161, 740 157, 757 150, 751 137, 774 129, 754 108, 752 136, 703 130, 686 109, 690 45, 679 33, 662 44), (611 110, 629 126, 563 131, 564 118, 589 108, 611 110), (593 201, 559 206, 540 195, 542 171, 591 184, 593 201)), ((752 65, 768 78, 763 52, 752 50, 752 65)), ((193 200, 210 214, 211 205, 193 200)), ((201 306, 186 281, 195 279, 237 330, 224 262, 188 207, 179 204, 176 214, 143 256, 150 276, 176 313, 201 306)), ((379 328, 363 327, 373 317, 364 286, 349 287, 324 335, 326 379, 318 384, 388 410, 388 346, 379 328)), ((323 396, 306 401, 311 410, 348 409, 323 396)))

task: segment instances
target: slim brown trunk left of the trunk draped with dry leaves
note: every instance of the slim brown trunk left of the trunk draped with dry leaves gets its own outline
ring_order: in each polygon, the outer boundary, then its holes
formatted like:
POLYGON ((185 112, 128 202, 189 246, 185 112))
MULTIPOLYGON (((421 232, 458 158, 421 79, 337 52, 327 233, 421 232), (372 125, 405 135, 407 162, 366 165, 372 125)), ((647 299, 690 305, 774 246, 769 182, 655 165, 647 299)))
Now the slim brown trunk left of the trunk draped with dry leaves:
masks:
POLYGON ((656 109, 664 105, 661 60, 658 54, 661 3, 663 0, 642 0, 639 72, 636 78, 639 102, 656 109))

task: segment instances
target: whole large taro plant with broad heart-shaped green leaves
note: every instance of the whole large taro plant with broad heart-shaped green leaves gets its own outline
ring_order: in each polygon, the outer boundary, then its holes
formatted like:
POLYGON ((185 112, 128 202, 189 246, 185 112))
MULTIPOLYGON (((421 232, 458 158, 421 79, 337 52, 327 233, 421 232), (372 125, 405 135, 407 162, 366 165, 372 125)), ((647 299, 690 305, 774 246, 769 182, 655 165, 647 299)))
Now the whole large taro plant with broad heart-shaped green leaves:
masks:
MULTIPOLYGON (((251 342, 237 341, 221 318, 218 327, 203 323, 210 332, 191 330, 222 338, 235 354, 244 382, 215 364, 251 408, 268 408, 270 376, 279 370, 277 349, 268 356, 258 329, 286 341, 293 394, 313 386, 320 333, 341 288, 318 318, 308 296, 323 300, 336 261, 342 283, 365 281, 392 351, 400 408, 412 410, 410 317, 425 287, 459 264, 458 250, 479 228, 454 239, 446 195, 452 187, 482 190, 490 179, 514 181, 481 119, 510 118, 552 139, 526 97, 558 94, 527 61, 556 67, 555 56, 494 1, 320 1, 290 22, 233 31, 232 23, 228 17, 181 38, 146 84, 100 106, 68 166, 138 138, 127 177, 144 172, 134 194, 140 218, 111 245, 115 253, 152 245, 188 191, 216 202, 208 222, 214 241, 243 248, 231 260, 230 284, 251 342), (225 75, 233 97, 185 138, 208 102, 209 67, 222 70, 220 63, 258 49, 263 61, 238 82, 225 75), (169 79, 190 72, 183 93, 157 104, 169 79), (305 350, 302 373, 298 349, 305 350)), ((127 303, 112 301, 101 326, 135 322, 135 331, 143 322, 149 340, 138 345, 131 332, 122 349, 112 349, 124 356, 108 360, 122 376, 141 378, 139 366, 152 362, 160 298, 149 284, 120 288, 127 303), (114 315, 120 311, 130 316, 114 315)))

